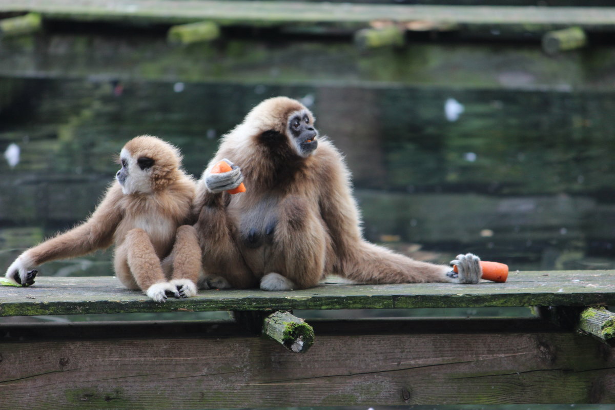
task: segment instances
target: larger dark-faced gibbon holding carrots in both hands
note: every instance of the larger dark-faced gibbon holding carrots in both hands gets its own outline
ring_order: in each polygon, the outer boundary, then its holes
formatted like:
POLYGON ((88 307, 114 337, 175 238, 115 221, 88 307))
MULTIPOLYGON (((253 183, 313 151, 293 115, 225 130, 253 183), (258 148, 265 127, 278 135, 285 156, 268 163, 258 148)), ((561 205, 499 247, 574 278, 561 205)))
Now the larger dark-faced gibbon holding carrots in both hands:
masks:
POLYGON ((319 137, 312 113, 286 97, 258 104, 224 135, 195 204, 204 279, 216 287, 304 289, 329 273, 355 283, 477 283, 481 275, 470 253, 453 261, 456 274, 365 241, 343 157, 319 137), (232 170, 211 173, 222 159, 232 170), (244 194, 224 192, 244 179, 244 194))

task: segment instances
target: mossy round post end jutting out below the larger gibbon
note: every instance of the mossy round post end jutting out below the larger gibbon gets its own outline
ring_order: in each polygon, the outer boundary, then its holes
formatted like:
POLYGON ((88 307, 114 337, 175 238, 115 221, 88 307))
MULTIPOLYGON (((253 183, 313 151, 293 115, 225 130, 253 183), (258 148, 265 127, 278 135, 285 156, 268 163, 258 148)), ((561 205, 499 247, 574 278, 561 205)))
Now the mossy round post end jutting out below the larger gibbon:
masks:
POLYGON ((307 352, 314 343, 314 329, 288 312, 276 312, 263 321, 263 334, 295 353, 307 352))

